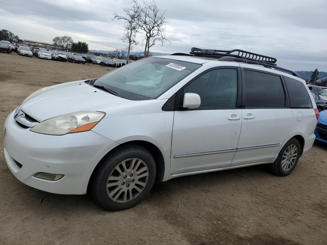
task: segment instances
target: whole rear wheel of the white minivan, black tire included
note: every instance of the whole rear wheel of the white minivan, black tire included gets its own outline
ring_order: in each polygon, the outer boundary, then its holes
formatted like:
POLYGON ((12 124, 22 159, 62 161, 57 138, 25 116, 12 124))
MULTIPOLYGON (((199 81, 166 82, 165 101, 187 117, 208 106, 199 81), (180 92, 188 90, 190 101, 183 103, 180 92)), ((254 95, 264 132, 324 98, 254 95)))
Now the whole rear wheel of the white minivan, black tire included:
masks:
POLYGON ((292 138, 287 141, 278 157, 273 163, 269 164, 272 173, 278 176, 286 176, 290 174, 297 165, 301 154, 301 145, 299 141, 292 138))

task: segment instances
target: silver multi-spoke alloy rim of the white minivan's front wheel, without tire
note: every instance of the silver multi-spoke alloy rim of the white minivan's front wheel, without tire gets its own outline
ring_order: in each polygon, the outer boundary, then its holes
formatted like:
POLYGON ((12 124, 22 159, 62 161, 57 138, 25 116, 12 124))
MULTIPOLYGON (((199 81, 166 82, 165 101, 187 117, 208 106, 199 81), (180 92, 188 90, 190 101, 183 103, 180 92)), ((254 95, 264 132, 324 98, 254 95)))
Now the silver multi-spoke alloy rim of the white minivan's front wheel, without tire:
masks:
POLYGON ((148 177, 149 171, 144 161, 138 158, 122 161, 109 174, 107 194, 116 203, 127 203, 141 194, 148 177))

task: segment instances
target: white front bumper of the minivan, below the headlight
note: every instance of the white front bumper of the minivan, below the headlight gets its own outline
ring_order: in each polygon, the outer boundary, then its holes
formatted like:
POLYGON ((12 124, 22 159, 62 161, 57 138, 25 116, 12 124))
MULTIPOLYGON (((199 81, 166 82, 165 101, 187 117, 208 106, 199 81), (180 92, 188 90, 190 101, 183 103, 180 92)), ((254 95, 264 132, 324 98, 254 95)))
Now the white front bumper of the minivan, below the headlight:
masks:
POLYGON ((43 191, 85 194, 97 163, 119 145, 93 131, 62 136, 34 133, 18 125, 13 114, 14 111, 5 122, 7 165, 19 181, 43 191), (38 172, 64 174, 64 177, 48 181, 34 177, 38 172))

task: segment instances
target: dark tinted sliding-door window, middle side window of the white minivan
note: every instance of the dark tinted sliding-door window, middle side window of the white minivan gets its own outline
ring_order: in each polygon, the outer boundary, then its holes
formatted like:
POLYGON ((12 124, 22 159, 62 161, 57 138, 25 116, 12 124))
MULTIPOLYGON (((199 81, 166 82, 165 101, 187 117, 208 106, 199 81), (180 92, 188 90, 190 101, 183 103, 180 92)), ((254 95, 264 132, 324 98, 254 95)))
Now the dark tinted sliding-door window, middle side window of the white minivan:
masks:
POLYGON ((285 93, 279 76, 244 70, 245 107, 285 107, 285 93))

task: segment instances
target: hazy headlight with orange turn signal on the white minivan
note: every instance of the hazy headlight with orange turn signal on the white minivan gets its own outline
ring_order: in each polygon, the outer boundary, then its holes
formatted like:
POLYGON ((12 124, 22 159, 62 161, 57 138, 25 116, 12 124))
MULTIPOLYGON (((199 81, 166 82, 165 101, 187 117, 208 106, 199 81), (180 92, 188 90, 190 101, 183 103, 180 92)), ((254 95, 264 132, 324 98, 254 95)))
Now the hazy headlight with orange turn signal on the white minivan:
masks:
POLYGON ((91 130, 104 117, 98 111, 80 111, 45 120, 30 131, 48 135, 64 135, 91 130))

